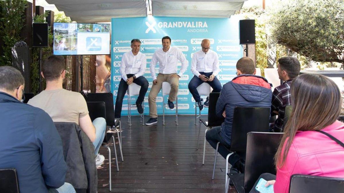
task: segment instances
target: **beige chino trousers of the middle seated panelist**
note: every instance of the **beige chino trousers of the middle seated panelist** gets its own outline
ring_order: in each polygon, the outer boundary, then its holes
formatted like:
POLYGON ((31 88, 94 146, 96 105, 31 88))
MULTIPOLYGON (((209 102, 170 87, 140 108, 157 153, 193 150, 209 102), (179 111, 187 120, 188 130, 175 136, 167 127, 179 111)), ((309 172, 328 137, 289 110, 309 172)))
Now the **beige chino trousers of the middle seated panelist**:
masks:
MULTIPOLYGON (((162 74, 159 73, 157 76, 158 83, 153 84, 149 95, 148 95, 148 103, 149 103, 149 116, 151 118, 157 118, 158 112, 157 112, 157 95, 160 92, 160 89, 162 87, 162 82, 168 82, 171 84, 171 91, 169 95, 170 101, 175 101, 177 94, 178 94, 178 88, 179 88, 179 76, 177 73, 172 74, 162 74)), ((164 101, 166 102, 166 101, 164 101)))

